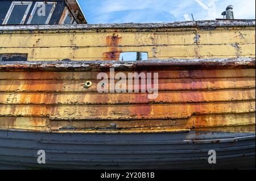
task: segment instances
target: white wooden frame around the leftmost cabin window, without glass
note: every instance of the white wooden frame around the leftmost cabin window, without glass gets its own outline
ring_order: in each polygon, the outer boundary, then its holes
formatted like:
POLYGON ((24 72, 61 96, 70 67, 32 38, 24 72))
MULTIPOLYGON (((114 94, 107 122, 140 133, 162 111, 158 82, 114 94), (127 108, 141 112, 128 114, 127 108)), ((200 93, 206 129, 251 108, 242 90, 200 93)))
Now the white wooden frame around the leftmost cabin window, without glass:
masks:
POLYGON ((22 17, 22 21, 19 23, 19 24, 24 24, 26 19, 27 19, 27 15, 28 15, 28 12, 30 12, 30 9, 31 9, 31 6, 32 6, 33 2, 32 1, 13 1, 11 3, 11 6, 5 16, 5 19, 3 20, 3 23, 2 24, 7 24, 9 19, 10 19, 10 16, 11 16, 11 12, 13 12, 13 9, 14 9, 14 6, 15 5, 28 5, 27 6, 27 9, 22 17))

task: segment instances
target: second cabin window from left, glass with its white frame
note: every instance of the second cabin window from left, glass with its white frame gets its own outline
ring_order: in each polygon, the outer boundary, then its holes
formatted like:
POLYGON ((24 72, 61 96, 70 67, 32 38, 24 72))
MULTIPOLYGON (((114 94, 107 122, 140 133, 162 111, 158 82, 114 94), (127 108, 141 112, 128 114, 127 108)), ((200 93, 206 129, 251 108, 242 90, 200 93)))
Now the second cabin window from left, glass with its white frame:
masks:
POLYGON ((55 7, 56 2, 36 2, 27 24, 48 24, 55 7))

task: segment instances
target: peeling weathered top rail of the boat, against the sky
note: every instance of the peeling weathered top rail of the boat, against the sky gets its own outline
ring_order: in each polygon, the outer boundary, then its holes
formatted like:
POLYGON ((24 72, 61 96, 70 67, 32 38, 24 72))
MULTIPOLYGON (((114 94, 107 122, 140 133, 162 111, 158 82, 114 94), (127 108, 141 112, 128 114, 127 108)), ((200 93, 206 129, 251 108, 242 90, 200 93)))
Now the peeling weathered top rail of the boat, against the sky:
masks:
POLYGON ((0 26, 3 31, 43 31, 43 30, 100 30, 100 29, 155 29, 155 28, 214 28, 214 27, 255 27, 255 19, 246 20, 201 20, 174 23, 118 23, 118 24, 58 24, 0 26))

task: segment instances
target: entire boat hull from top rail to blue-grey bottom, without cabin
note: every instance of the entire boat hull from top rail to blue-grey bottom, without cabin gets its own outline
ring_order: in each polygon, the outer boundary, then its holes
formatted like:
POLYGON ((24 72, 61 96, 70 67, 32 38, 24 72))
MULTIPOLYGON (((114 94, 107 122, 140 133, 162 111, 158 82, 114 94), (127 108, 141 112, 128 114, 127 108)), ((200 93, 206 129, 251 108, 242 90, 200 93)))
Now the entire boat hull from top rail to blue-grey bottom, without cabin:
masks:
POLYGON ((255 166, 255 20, 1 26, 0 44, 4 169, 255 166), (134 51, 148 60, 119 61, 134 51), (158 73, 157 98, 100 94, 110 69, 158 73))

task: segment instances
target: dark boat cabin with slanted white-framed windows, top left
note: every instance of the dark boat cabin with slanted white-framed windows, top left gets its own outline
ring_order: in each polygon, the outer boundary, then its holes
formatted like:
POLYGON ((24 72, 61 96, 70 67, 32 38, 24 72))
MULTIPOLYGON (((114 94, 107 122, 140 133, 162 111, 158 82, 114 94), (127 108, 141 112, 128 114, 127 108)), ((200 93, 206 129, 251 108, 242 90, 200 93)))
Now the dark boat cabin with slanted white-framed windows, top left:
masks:
POLYGON ((0 24, 85 24, 76 0, 0 0, 0 24))

